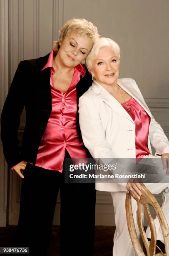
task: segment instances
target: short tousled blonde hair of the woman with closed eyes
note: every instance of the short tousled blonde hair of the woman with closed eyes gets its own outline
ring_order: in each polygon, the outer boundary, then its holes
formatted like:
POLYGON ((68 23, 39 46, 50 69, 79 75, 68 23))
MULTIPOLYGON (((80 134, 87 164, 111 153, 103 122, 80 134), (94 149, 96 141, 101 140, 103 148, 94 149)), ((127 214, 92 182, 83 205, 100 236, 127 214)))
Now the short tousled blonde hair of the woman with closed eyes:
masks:
POLYGON ((85 19, 72 19, 68 20, 65 25, 60 29, 59 41, 53 41, 53 50, 60 48, 60 43, 72 31, 77 31, 80 35, 87 35, 92 39, 93 44, 99 38, 97 27, 92 22, 85 19))

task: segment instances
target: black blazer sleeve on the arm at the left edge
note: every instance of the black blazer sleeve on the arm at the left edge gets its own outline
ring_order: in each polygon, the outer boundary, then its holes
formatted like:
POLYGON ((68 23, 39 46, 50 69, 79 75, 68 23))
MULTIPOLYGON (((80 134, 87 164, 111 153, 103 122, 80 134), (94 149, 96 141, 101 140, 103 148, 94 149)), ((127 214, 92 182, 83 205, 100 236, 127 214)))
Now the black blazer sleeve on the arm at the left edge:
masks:
POLYGON ((24 65, 24 61, 21 61, 17 67, 1 114, 1 140, 4 156, 10 168, 23 160, 17 131, 20 125, 20 115, 25 105, 24 65))

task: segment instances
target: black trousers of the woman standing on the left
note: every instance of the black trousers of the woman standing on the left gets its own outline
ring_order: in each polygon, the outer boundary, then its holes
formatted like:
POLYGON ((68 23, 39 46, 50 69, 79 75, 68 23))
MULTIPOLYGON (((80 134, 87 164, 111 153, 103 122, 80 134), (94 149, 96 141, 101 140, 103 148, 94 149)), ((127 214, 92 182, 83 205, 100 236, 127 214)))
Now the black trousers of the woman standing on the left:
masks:
POLYGON ((64 172, 25 168, 14 246, 29 247, 29 255, 47 255, 59 189, 60 255, 93 255, 95 184, 65 184, 64 172))

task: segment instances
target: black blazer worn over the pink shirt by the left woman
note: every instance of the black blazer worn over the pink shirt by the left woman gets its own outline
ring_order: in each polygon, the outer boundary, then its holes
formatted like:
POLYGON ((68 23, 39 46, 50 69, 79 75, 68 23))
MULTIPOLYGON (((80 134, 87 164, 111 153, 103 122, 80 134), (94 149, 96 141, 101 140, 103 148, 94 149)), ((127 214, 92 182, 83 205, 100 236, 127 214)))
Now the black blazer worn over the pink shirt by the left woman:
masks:
MULTIPOLYGON (((52 111, 50 68, 42 71, 48 57, 49 54, 38 59, 21 61, 5 100, 1 115, 1 140, 10 168, 22 160, 36 163, 38 147, 52 111), (24 107, 26 125, 20 147, 17 131, 24 107)), ((80 136, 78 101, 91 84, 91 75, 86 69, 85 76, 81 76, 77 84, 77 129, 80 136)))

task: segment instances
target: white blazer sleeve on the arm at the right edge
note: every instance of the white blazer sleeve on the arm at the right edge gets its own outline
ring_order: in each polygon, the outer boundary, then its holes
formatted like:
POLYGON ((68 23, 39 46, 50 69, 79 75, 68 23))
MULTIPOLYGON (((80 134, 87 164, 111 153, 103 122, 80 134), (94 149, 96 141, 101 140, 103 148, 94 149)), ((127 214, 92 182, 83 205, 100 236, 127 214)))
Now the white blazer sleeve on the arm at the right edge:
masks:
MULTIPOLYGON (((134 80, 133 82, 137 86, 134 80)), ((137 86, 137 89, 139 90, 138 86, 137 86)), ((140 95, 142 97, 142 101, 144 102, 144 104, 147 105, 141 92, 140 92, 140 95)), ((153 148, 156 151, 155 156, 161 156, 164 153, 169 153, 169 140, 167 139, 167 136, 165 135, 161 125, 157 123, 157 121, 153 116, 152 116, 152 122, 150 123, 149 138, 150 138, 150 143, 152 144, 153 148)))

